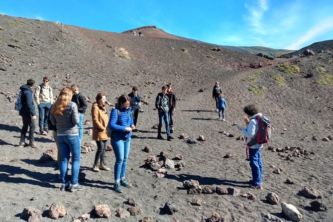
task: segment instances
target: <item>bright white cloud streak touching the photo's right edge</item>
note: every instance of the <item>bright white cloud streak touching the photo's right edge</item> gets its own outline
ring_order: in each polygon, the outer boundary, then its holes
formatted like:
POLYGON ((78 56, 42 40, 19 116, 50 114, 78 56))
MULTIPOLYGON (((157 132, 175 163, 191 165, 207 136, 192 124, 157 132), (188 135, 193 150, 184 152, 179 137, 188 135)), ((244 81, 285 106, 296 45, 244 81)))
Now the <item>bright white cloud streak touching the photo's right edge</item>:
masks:
POLYGON ((297 41, 286 46, 285 49, 291 49, 291 50, 300 49, 304 43, 307 43, 316 38, 317 36, 320 36, 332 29, 333 29, 333 17, 330 17, 328 19, 323 19, 321 22, 317 23, 315 26, 310 28, 297 41))

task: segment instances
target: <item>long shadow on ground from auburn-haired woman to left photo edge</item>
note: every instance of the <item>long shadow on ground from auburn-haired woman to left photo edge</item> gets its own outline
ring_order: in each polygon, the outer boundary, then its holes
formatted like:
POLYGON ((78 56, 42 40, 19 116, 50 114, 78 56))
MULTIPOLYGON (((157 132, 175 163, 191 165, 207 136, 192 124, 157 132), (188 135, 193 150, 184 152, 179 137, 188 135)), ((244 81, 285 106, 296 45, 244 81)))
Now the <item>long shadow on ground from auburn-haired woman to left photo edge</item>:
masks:
POLYGON ((31 184, 45 188, 56 188, 51 183, 56 183, 58 178, 52 173, 33 172, 21 167, 0 164, 0 181, 8 184, 31 184), (21 174, 25 176, 17 177, 21 174), (27 179, 26 176, 33 179, 27 179))

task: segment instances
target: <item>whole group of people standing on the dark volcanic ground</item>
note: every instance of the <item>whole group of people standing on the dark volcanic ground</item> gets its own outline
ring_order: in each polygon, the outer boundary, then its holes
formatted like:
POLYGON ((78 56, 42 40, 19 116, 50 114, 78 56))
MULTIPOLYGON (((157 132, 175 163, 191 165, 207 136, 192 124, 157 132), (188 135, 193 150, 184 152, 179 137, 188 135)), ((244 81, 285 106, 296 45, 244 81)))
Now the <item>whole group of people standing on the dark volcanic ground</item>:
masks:
MULTIPOLYGON (((20 100, 22 108, 19 115, 22 116, 22 130, 19 146, 30 146, 37 148, 34 142, 34 131, 36 113, 33 98, 36 101, 39 112, 38 126, 41 135, 47 135, 49 129, 53 130, 55 141, 58 148, 58 164, 60 170, 59 178, 62 180, 61 190, 69 189, 71 192, 83 190, 84 186, 78 183, 78 175, 81 158, 81 139, 83 135, 82 121, 84 113, 88 107, 86 98, 79 92, 78 85, 72 85, 71 88, 65 87, 60 91, 57 100, 53 103, 52 88, 48 85, 49 77, 43 78, 34 95, 32 89, 35 88, 35 81, 27 80, 27 84, 20 87, 20 100), (29 143, 25 143, 25 136, 29 127, 29 143), (68 164, 72 158, 71 181, 68 179, 68 164)), ((223 98, 222 89, 219 82, 216 82, 213 88, 213 98, 216 100, 216 108, 222 112, 224 120, 224 110, 226 102, 223 98)), ((159 124, 157 139, 163 139, 161 130, 163 121, 167 133, 167 140, 174 139, 171 133, 174 132, 174 111, 176 110, 176 95, 172 89, 172 84, 162 87, 155 100, 155 108, 158 111, 159 124)), ((110 171, 105 162, 105 151, 107 141, 111 139, 111 146, 115 155, 114 163, 114 184, 113 189, 117 193, 122 192, 121 187, 131 187, 125 179, 127 158, 130 150, 130 140, 132 132, 138 132, 136 123, 140 109, 141 98, 138 94, 138 88, 133 87, 132 92, 128 95, 121 95, 115 109, 111 110, 110 117, 106 109, 107 96, 104 93, 98 93, 96 102, 92 105, 93 119, 93 140, 96 141, 97 151, 92 170, 98 172, 100 170, 110 171), (111 131, 110 134, 108 131, 111 131)), ((255 105, 246 106, 244 108, 246 116, 244 121, 245 128, 240 128, 246 137, 246 142, 250 141, 258 131, 257 115, 258 112, 255 105)), ((262 144, 254 144, 249 147, 249 160, 252 170, 251 187, 255 189, 262 188, 262 160, 261 152, 262 144)))

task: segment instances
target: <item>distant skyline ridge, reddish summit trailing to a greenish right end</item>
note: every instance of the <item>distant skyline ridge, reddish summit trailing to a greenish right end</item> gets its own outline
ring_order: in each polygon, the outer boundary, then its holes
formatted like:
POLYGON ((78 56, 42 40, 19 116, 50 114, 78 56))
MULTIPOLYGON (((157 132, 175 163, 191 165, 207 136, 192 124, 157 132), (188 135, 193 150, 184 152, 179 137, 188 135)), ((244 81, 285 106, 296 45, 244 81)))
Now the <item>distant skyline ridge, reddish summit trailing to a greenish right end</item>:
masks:
MULTIPOLYGON (((139 30, 141 30, 143 36, 145 37, 155 37, 155 38, 169 38, 169 39, 178 39, 178 40, 183 40, 183 41, 190 41, 190 42, 202 42, 206 44, 212 44, 208 42, 203 42, 195 39, 190 39, 190 38, 184 38, 180 37, 177 35, 172 35, 168 32, 163 31, 162 29, 156 28, 155 25, 150 25, 150 26, 142 26, 139 28, 123 31, 121 33, 123 34, 133 34, 133 31, 135 30, 136 35, 138 35, 139 30)), ((216 45, 216 44, 212 44, 216 45)), ((223 48, 231 49, 237 52, 242 52, 242 53, 250 53, 250 54, 266 54, 271 57, 279 57, 281 55, 291 53, 294 50, 287 50, 287 49, 272 49, 272 48, 267 48, 267 47, 262 47, 262 46, 228 46, 228 45, 217 45, 223 48)))

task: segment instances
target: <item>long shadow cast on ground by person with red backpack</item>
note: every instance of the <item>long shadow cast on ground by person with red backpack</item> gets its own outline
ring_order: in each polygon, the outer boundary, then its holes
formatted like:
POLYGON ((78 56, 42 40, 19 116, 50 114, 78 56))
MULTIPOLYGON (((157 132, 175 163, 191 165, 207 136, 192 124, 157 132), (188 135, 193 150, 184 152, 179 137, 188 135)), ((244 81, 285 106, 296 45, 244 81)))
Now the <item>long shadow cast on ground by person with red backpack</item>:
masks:
POLYGON ((190 175, 190 174, 179 174, 178 176, 166 174, 165 178, 176 180, 179 182, 183 182, 185 180, 197 180, 200 185, 224 185, 224 186, 233 186, 240 188, 248 187, 248 182, 246 181, 223 180, 215 177, 202 177, 199 175, 190 175))

